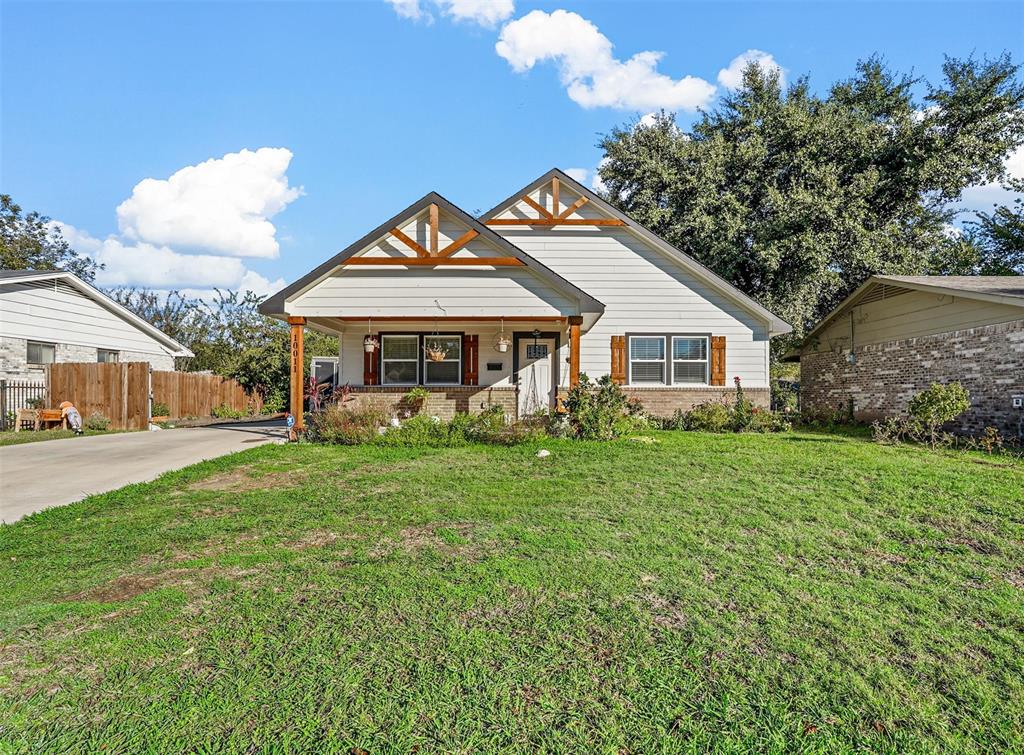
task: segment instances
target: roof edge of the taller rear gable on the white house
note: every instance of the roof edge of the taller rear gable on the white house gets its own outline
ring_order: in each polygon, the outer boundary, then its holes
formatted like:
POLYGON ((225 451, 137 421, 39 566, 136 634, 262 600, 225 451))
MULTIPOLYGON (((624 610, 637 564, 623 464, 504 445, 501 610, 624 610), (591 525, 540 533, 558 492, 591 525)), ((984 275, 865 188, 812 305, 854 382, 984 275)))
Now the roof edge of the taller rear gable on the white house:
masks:
POLYGON ((707 283, 715 290, 719 291, 726 298, 735 301, 744 309, 748 309, 749 311, 761 318, 764 318, 770 324, 770 331, 772 335, 781 335, 783 333, 790 333, 793 330, 793 327, 788 323, 786 323, 781 318, 777 317, 776 314, 772 313, 771 311, 763 307, 761 304, 759 304, 750 296, 748 296, 742 291, 737 289, 731 283, 719 277, 708 267, 705 267, 702 264, 697 262, 695 259, 693 259, 693 257, 688 255, 686 252, 682 251, 681 249, 677 249, 672 244, 667 242, 665 239, 654 234, 652 230, 641 225, 622 210, 611 206, 608 202, 601 199, 599 195, 587 188, 587 186, 583 185, 580 181, 575 180, 574 178, 564 173, 563 171, 559 170, 558 168, 552 168, 541 177, 537 178, 530 183, 527 183, 518 192, 514 192, 507 199, 499 202, 497 205, 495 205, 489 210, 480 215, 480 217, 484 220, 488 220, 490 218, 496 217, 501 212, 507 210, 509 207, 516 204, 519 201, 520 197, 536 192, 544 184, 549 183, 552 178, 558 178, 560 182, 567 184, 573 192, 579 194, 581 197, 586 197, 591 205, 598 207, 611 217, 622 220, 626 224, 626 227, 628 227, 634 234, 641 237, 644 241, 648 242, 655 248, 665 252, 668 256, 675 259, 688 271, 693 274, 696 278, 702 280, 705 283, 707 283))

